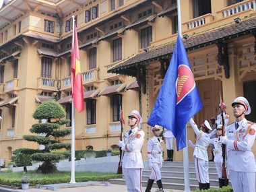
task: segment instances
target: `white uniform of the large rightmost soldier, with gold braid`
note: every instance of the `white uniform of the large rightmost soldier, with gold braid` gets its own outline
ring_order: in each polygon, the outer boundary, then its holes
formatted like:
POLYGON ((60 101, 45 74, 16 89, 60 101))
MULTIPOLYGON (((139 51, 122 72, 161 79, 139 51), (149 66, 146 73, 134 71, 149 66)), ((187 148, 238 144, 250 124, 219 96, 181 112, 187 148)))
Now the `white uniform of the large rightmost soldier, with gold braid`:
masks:
POLYGON ((255 157, 251 148, 255 141, 255 123, 243 119, 226 127, 227 168, 234 192, 255 192, 255 157))

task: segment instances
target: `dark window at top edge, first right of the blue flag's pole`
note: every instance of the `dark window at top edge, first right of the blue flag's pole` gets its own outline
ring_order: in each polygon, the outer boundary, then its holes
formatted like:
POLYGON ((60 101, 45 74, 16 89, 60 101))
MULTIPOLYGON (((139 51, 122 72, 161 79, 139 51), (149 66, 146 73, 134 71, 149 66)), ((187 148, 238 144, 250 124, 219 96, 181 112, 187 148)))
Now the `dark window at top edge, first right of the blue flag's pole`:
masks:
POLYGON ((194 18, 211 13, 211 0, 193 0, 194 18))

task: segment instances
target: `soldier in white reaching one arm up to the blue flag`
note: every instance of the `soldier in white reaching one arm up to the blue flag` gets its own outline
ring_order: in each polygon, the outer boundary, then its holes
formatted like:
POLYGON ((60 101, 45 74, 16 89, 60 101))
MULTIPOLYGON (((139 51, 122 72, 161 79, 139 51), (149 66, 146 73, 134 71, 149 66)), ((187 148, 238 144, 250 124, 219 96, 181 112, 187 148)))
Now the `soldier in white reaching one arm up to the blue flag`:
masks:
POLYGON ((195 174, 197 175, 199 189, 210 189, 207 148, 210 145, 210 137, 212 134, 216 134, 216 129, 212 131, 212 128, 207 120, 202 123, 200 129, 197 128, 197 125, 192 118, 189 120, 189 123, 193 128, 195 135, 197 135, 195 145, 193 145, 193 143, 189 140, 189 146, 194 148, 193 156, 195 159, 195 174), (209 131, 212 132, 209 133, 209 131))

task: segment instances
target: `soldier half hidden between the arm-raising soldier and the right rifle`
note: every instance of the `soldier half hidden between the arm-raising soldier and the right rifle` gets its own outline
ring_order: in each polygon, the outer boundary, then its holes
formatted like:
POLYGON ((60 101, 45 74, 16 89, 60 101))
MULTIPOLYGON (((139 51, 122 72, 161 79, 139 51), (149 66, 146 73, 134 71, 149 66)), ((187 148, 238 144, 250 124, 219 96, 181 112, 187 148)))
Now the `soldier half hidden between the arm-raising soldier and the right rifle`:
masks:
POLYGON ((221 135, 222 135, 222 125, 220 124, 217 127, 218 137, 214 139, 210 139, 210 143, 214 145, 214 162, 215 162, 216 170, 218 173, 220 187, 222 186, 220 179, 222 178, 222 162, 223 162, 222 143, 220 142, 221 135))

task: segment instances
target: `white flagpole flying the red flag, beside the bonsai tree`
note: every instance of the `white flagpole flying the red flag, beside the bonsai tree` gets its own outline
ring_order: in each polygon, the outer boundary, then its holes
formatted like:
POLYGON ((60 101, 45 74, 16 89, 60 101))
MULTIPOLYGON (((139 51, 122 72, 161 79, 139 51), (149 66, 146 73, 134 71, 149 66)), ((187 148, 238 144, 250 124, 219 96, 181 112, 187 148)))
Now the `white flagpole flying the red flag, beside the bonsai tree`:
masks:
MULTIPOLYGON (((75 25, 75 16, 72 16, 72 23, 73 23, 73 29, 75 25)), ((75 32, 73 30, 73 38, 72 38, 72 49, 74 49, 74 36, 75 32)), ((73 86, 73 82, 72 82, 73 86)), ((71 107, 72 113, 71 113, 71 179, 69 183, 76 183, 75 182, 75 108, 74 108, 74 102, 72 98, 72 107, 71 107)))

